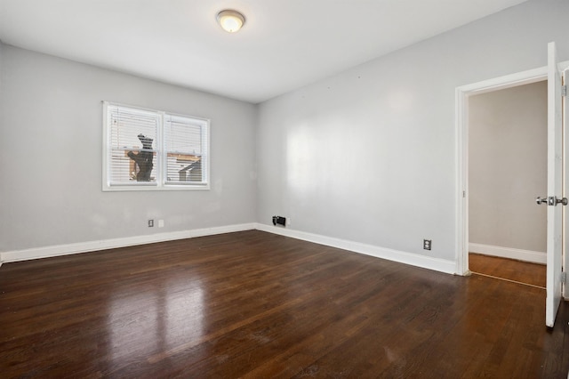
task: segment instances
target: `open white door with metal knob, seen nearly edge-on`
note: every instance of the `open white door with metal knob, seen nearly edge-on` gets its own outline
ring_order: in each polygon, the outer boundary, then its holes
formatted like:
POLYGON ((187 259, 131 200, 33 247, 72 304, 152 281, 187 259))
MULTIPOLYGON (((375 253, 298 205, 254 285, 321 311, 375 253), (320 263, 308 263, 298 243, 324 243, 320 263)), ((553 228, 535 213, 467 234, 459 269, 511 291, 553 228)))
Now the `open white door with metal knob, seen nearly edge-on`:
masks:
MULTIPOLYGON (((548 45, 548 195, 541 202, 548 206, 547 299, 545 324, 553 327, 561 302, 563 249, 563 116, 562 75, 558 68, 555 43, 548 45)), ((538 198, 538 202, 540 199, 538 198)))

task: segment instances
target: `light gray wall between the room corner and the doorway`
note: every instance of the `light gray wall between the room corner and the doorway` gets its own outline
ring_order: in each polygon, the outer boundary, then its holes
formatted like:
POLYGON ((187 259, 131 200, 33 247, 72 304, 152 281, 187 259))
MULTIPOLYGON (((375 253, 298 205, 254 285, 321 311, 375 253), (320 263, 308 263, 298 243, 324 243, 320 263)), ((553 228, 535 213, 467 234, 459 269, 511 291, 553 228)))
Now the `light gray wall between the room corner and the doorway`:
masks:
POLYGON ((258 221, 454 260, 455 88, 543 67, 550 41, 568 60, 567 14, 530 1, 262 103, 258 221))

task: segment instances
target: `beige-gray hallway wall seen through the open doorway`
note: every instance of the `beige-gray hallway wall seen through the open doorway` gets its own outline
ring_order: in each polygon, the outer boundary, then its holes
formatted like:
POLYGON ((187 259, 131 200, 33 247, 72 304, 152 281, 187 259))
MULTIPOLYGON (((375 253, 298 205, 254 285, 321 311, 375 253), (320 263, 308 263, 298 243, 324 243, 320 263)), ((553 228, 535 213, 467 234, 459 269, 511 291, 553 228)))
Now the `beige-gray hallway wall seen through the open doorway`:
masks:
POLYGON ((546 251, 547 81, 469 98, 469 242, 546 251))

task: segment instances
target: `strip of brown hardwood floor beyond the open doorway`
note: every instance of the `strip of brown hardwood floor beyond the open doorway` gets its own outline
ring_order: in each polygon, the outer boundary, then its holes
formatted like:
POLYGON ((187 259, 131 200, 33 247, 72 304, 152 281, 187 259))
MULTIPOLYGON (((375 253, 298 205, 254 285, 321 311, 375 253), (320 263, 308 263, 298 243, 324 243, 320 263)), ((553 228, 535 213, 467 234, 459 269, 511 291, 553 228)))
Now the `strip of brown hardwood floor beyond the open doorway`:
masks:
POLYGON ((546 266, 483 254, 469 254, 472 273, 545 288, 546 266))

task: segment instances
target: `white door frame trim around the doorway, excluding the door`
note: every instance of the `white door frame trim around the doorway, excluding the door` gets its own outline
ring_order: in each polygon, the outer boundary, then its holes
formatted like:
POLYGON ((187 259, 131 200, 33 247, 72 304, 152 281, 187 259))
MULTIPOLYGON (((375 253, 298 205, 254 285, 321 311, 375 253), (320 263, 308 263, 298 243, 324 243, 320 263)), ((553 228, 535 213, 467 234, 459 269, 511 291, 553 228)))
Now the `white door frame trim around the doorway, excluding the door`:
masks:
MULTIPOLYGON (((559 63, 561 71, 569 68, 569 61, 559 63)), ((530 69, 503 77, 484 80, 470 85, 462 85, 455 90, 455 162, 456 162, 456 214, 455 214, 455 272, 458 275, 469 275, 469 96, 489 93, 518 85, 530 85, 548 79, 548 67, 530 69)), ((565 133, 565 144, 569 141, 569 133, 565 133)), ((569 165, 565 165, 569 167, 569 165)), ((566 170, 566 169, 565 169, 566 170)), ((569 175, 565 174, 569 182, 569 175)), ((564 214, 564 230, 565 214, 564 214)), ((567 267, 569 259, 565 254, 567 267)), ((569 294, 564 294, 565 297, 569 294)))

